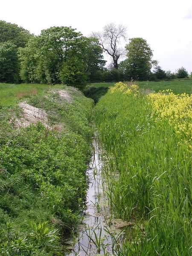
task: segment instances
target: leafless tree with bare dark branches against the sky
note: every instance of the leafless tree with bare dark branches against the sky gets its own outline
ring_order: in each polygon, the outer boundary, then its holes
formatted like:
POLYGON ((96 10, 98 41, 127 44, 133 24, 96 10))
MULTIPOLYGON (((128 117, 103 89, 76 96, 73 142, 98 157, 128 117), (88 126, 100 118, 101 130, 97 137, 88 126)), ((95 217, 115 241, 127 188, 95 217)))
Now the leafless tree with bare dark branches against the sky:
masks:
POLYGON ((110 23, 104 26, 102 32, 93 32, 92 36, 97 38, 99 45, 113 58, 113 67, 118 69, 119 57, 124 55, 121 40, 126 40, 127 28, 123 25, 110 23))

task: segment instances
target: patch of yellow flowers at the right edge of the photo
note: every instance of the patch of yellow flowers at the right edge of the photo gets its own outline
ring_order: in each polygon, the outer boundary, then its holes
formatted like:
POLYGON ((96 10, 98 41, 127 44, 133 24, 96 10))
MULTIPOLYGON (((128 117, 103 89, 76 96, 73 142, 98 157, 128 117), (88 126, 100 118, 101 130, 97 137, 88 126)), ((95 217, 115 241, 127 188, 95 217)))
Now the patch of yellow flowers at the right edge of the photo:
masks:
POLYGON ((192 149, 192 95, 174 94, 172 90, 150 93, 147 96, 156 120, 168 119, 175 132, 182 137, 184 143, 192 149))

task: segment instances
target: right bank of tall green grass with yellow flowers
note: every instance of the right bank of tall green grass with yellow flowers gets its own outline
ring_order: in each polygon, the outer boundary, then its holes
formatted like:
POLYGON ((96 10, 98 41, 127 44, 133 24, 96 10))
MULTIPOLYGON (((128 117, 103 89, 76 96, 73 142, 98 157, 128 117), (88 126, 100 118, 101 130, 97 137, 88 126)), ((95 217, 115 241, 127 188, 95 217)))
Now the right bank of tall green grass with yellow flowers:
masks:
POLYGON ((134 223, 116 255, 191 255, 190 104, 119 86, 96 105, 111 212, 134 223))

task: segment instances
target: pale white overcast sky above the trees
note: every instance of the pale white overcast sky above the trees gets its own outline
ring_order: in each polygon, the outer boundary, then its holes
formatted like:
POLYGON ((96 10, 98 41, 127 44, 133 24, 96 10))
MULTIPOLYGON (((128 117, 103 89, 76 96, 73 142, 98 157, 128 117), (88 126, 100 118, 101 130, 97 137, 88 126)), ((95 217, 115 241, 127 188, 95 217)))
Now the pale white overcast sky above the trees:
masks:
POLYGON ((39 35, 51 26, 72 26, 83 35, 122 24, 141 37, 163 70, 192 71, 191 0, 0 0, 0 20, 39 35))

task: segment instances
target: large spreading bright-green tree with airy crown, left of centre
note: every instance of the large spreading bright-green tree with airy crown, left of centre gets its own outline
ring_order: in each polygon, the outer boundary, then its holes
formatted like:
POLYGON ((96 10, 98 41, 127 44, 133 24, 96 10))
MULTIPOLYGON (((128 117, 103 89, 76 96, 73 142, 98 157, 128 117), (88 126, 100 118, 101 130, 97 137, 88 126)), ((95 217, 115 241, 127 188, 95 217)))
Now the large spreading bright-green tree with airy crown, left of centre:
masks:
POLYGON ((71 27, 51 27, 30 39, 27 47, 20 49, 21 78, 23 81, 60 83, 59 73, 74 55, 80 55, 81 33, 71 27))

